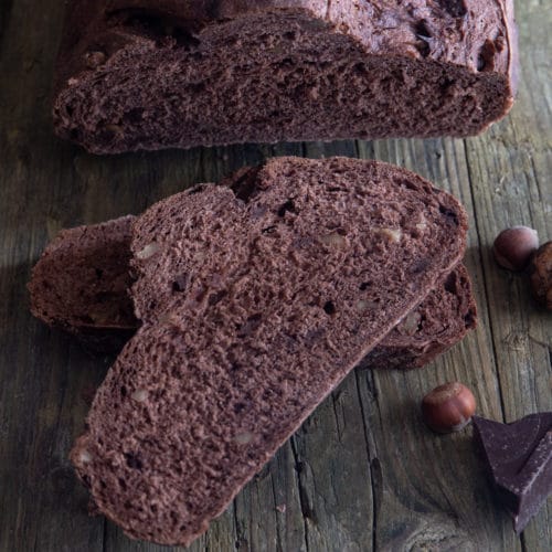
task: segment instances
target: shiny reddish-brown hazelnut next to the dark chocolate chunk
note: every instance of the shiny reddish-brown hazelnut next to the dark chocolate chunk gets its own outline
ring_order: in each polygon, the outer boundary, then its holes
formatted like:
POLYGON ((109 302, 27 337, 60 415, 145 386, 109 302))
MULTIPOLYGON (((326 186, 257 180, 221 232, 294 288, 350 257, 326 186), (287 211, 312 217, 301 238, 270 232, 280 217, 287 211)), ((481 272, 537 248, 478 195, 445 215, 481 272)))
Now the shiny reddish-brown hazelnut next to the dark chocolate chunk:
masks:
POLYGON ((471 421, 475 411, 474 394, 459 382, 439 385, 422 401, 424 422, 437 433, 463 429, 471 421))

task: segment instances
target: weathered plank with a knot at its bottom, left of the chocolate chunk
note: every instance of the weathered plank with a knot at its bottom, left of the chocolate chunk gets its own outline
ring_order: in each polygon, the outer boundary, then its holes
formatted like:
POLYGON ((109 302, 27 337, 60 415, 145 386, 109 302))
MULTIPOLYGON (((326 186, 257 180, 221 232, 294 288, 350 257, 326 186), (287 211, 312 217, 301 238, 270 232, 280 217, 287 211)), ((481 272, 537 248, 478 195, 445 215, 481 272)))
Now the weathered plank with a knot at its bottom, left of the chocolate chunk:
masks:
MULTIPOLYGON (((379 141, 371 148, 367 151, 364 144, 359 145, 362 157, 375 156, 416 170, 452 191, 474 221, 463 141, 379 141)), ((484 275, 475 224, 468 243, 467 265, 479 302, 478 329, 424 371, 358 374, 363 401, 374 401, 367 426, 374 436, 381 474, 378 549, 516 549, 509 520, 492 507, 469 432, 436 436, 425 428, 420 415, 420 402, 427 391, 444 381, 459 380, 474 390, 480 412, 501 417, 496 363, 492 349, 487 347, 490 326, 486 301, 481 300, 484 275)))

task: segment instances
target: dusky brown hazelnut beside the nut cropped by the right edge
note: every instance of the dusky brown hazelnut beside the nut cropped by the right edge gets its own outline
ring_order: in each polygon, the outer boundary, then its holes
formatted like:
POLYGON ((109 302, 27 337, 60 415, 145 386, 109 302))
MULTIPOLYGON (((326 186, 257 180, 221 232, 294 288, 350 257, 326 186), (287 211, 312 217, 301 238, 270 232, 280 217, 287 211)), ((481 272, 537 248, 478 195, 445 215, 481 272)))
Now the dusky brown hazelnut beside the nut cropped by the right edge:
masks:
POLYGON ((523 270, 533 252, 539 247, 537 231, 527 226, 513 226, 500 232, 492 253, 497 263, 509 270, 523 270))

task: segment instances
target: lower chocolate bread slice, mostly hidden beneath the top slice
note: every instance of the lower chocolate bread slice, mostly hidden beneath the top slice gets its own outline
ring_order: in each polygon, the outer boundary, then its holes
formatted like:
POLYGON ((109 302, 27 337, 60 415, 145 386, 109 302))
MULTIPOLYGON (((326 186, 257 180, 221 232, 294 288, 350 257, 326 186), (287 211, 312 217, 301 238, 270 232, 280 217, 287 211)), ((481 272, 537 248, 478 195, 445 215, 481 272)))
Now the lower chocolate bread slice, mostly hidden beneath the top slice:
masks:
MULTIPOLYGON (((130 283, 127 262, 134 220, 126 216, 63 231, 33 269, 29 285, 33 314, 77 336, 89 349, 119 352, 140 325, 129 306, 129 289, 121 285, 130 283)), ((471 284, 459 264, 361 367, 421 368, 460 341, 475 323, 471 284)))

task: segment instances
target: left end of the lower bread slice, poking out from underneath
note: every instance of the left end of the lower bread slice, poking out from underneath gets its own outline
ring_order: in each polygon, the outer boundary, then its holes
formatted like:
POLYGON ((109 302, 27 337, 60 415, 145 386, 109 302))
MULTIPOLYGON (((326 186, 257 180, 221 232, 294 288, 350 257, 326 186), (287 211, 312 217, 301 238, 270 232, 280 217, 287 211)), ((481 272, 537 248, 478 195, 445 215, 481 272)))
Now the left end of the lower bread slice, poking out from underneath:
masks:
POLYGON ((128 294, 132 221, 61 231, 32 270, 32 314, 91 349, 120 349, 138 325, 128 294))

